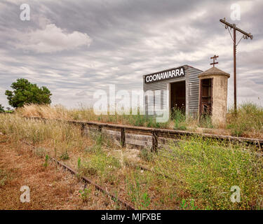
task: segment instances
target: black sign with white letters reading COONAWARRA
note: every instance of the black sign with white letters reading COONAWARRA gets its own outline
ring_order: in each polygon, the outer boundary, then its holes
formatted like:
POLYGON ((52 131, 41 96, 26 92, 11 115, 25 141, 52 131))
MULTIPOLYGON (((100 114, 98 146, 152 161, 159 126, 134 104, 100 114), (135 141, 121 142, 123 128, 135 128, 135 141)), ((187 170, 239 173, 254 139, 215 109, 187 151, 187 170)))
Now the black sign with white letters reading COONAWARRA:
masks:
POLYGON ((184 68, 169 69, 166 71, 160 71, 157 73, 151 73, 144 76, 145 83, 154 83, 161 80, 167 80, 171 78, 181 78, 184 76, 184 68))

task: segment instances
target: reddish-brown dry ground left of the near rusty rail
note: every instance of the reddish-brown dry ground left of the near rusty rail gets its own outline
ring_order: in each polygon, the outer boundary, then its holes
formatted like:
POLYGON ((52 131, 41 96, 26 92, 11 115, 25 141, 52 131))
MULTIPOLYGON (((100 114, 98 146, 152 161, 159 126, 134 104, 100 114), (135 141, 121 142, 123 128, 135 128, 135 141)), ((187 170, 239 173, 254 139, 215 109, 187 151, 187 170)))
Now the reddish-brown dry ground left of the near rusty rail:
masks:
POLYGON ((121 209, 92 186, 32 153, 29 146, 14 146, 0 134, 0 209, 121 209), (30 202, 20 202, 22 186, 30 189, 30 202), (88 188, 85 199, 79 190, 88 188))

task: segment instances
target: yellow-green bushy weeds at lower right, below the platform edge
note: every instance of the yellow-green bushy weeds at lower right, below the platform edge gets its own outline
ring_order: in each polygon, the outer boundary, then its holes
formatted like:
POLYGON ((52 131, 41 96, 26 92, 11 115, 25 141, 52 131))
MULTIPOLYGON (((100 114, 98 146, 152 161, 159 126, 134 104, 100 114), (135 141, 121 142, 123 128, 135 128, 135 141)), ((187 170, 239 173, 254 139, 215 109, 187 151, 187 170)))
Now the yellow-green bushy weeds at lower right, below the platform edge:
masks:
POLYGON ((176 164, 176 175, 169 175, 182 181, 178 186, 185 194, 182 200, 194 200, 203 208, 256 209, 263 193, 263 160, 252 149, 243 148, 198 137, 172 144, 168 155, 176 164), (231 186, 241 189, 240 203, 229 200, 231 186))

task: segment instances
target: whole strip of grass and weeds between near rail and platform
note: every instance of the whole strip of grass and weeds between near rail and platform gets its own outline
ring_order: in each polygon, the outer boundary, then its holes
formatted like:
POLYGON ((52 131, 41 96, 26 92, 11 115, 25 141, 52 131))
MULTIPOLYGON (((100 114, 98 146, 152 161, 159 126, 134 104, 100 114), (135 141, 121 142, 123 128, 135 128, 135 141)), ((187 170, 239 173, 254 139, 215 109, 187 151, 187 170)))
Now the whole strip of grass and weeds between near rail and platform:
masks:
MULTIPOLYGON (((80 127, 62 121, 0 114, 0 132, 16 148, 23 142, 34 144, 45 167, 49 155, 63 160, 67 152, 66 165, 137 209, 263 209, 263 161, 248 146, 185 137, 158 154, 144 149, 133 160, 128 149, 115 146, 104 134, 90 132, 84 137, 80 127), (232 186, 241 189, 240 203, 230 200, 232 186)), ((81 192, 83 202, 89 195, 81 192)))

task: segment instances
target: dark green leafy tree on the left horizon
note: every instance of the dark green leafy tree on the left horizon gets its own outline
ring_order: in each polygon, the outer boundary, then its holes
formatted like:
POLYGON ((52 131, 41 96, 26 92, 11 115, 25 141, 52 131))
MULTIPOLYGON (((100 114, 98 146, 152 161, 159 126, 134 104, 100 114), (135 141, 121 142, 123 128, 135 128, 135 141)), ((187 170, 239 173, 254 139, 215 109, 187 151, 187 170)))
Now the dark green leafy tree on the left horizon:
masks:
POLYGON ((8 103, 14 108, 24 104, 50 104, 52 95, 47 87, 38 87, 36 84, 29 83, 25 78, 18 78, 12 83, 13 91, 6 90, 8 103))

